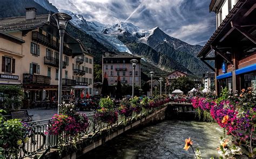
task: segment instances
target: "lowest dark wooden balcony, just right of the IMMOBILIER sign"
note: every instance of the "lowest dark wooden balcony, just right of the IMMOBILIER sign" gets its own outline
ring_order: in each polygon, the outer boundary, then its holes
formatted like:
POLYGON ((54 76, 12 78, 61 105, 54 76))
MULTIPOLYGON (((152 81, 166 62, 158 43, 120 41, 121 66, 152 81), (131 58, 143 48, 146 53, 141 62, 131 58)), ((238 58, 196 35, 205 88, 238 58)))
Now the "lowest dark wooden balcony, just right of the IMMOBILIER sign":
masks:
POLYGON ((24 84, 49 85, 51 77, 33 74, 23 74, 24 84))

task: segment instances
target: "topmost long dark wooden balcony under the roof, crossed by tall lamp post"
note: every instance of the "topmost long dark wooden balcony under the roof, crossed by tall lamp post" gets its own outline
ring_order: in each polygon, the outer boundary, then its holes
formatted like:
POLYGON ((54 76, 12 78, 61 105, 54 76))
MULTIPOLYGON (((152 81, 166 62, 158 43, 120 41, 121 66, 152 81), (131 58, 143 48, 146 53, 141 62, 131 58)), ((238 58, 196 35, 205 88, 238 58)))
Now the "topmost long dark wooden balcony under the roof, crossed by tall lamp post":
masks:
MULTIPOLYGON (((59 51, 59 42, 46 37, 46 35, 44 35, 42 33, 32 32, 32 40, 39 42, 40 44, 42 44, 44 46, 48 46, 52 49, 59 51)), ((66 46, 63 46, 63 54, 65 54, 67 56, 72 56, 72 49, 70 49, 66 46)))

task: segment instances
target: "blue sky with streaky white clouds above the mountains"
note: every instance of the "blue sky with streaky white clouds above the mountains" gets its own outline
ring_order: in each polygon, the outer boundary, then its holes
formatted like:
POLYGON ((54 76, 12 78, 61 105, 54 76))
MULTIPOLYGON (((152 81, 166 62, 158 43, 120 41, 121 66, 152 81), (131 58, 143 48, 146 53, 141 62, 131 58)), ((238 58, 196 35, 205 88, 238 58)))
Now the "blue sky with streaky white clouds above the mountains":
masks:
POLYGON ((210 0, 49 0, 58 9, 83 15, 87 21, 127 21, 142 29, 158 26, 188 44, 204 45, 215 30, 210 0))

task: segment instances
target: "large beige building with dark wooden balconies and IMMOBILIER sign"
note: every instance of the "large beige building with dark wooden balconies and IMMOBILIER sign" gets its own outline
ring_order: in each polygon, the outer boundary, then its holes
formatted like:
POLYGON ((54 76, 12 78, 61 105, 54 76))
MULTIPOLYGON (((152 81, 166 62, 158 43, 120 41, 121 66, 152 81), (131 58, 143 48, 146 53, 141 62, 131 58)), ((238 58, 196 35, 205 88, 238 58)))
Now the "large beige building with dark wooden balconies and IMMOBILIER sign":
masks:
MULTIPOLYGON (((29 103, 57 99, 59 33, 55 19, 28 8, 26 16, 0 19, 0 31, 0 84, 22 85, 29 103)), ((68 32, 62 71, 64 99, 79 95, 76 91, 92 92, 93 56, 68 32)))

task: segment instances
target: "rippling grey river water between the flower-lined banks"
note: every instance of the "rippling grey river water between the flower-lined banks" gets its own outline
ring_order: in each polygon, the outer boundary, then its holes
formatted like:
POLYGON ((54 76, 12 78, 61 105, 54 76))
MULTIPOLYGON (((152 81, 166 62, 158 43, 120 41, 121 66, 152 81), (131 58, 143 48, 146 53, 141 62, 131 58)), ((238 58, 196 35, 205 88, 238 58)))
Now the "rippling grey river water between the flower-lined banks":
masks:
POLYGON ((189 137, 202 158, 210 158, 218 156, 221 135, 215 123, 167 120, 117 136, 81 158, 193 158, 191 148, 183 149, 189 137))

